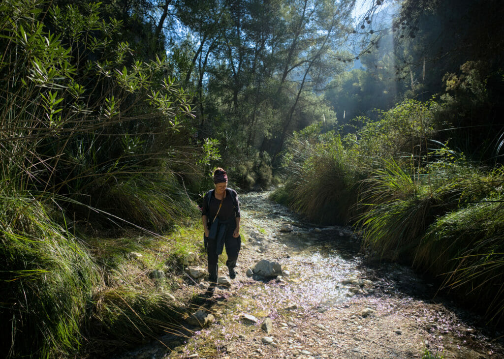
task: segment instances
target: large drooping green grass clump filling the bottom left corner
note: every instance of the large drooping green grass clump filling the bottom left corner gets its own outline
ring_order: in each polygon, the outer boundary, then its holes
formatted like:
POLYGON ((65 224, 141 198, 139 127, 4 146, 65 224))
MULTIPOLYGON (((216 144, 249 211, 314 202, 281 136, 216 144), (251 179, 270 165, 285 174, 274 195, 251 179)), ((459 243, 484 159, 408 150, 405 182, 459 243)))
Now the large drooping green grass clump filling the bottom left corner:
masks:
POLYGON ((99 268, 30 193, 0 194, 2 356, 70 356, 81 343, 99 268), (33 350, 36 350, 35 352, 33 350))

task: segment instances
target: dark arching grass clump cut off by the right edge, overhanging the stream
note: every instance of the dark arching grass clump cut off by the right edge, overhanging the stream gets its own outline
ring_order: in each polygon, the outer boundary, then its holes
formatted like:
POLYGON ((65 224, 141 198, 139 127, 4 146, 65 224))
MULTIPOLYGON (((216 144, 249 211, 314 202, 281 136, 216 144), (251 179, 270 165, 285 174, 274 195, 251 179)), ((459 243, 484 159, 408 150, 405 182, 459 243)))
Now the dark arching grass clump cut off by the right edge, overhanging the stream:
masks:
POLYGON ((459 292, 498 319, 504 309, 504 196, 447 213, 426 232, 415 265, 440 275, 444 288, 459 292))

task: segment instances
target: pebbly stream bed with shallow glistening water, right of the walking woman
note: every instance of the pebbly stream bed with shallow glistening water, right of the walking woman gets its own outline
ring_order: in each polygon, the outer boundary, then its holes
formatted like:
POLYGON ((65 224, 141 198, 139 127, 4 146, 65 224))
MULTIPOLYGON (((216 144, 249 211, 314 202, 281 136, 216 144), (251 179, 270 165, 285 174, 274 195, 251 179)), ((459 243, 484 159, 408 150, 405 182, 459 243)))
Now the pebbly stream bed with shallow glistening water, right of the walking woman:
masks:
POLYGON ((192 334, 176 344, 173 336, 161 338, 170 349, 154 343, 123 358, 409 358, 425 350, 445 358, 504 357, 501 342, 491 339, 502 334, 485 332, 477 316, 433 299, 432 284, 409 268, 359 254, 351 229, 310 226, 265 193, 240 200, 249 239, 236 279, 212 300, 196 298, 190 305, 211 313, 213 324, 189 327, 192 334), (280 232, 286 223, 294 225, 292 232, 280 232), (248 277, 246 270, 261 259, 278 261, 288 275, 248 277), (344 284, 351 277, 369 281, 344 284), (270 333, 261 328, 266 318, 270 333))

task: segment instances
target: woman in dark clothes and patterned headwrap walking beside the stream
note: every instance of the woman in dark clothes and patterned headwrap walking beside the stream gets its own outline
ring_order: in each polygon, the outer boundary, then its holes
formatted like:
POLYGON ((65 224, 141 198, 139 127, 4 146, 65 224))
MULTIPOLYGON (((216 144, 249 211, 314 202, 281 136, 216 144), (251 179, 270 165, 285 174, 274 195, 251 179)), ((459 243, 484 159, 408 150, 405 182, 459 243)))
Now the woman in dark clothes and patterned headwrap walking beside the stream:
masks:
POLYGON ((240 251, 240 206, 238 194, 227 188, 227 173, 218 167, 214 171, 215 189, 203 198, 202 220, 205 234, 203 241, 208 254, 210 286, 205 295, 212 296, 217 285, 217 260, 226 247, 229 278, 234 279, 234 267, 240 251))

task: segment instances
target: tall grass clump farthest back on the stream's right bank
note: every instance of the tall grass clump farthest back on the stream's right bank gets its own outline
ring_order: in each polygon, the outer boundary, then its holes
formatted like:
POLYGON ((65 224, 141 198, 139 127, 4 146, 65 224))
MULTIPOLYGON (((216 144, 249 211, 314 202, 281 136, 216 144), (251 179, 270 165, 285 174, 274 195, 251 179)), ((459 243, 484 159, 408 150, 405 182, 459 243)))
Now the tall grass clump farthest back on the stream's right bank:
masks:
POLYGON ((346 223, 362 174, 346 156, 339 136, 319 136, 317 126, 312 127, 291 139, 292 152, 284 163, 287 181, 272 198, 313 222, 346 223))

